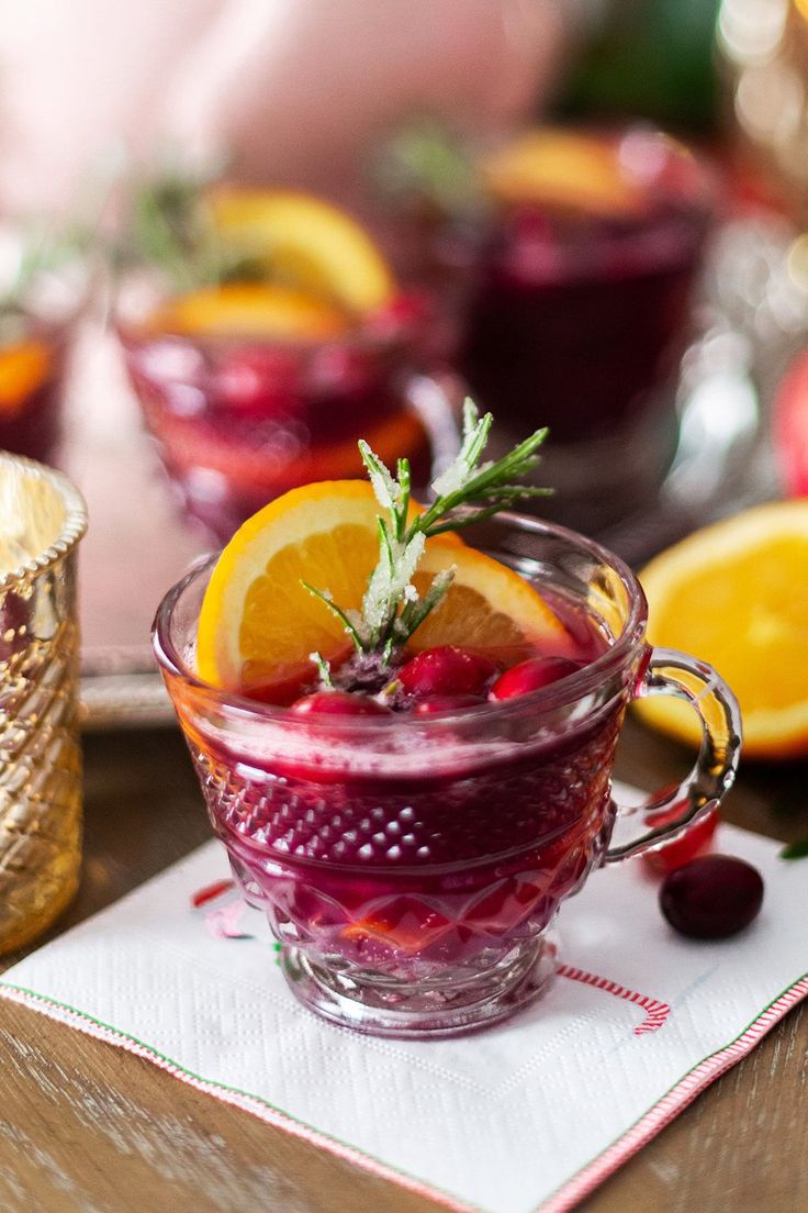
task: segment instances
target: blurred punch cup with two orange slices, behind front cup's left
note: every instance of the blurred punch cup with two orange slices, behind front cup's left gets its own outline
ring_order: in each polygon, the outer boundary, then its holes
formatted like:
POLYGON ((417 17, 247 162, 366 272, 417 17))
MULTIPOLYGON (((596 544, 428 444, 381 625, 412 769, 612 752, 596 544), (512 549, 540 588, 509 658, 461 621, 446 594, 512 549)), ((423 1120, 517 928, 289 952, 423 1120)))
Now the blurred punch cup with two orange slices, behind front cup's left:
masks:
POLYGON ((425 484, 455 440, 451 402, 422 374, 425 296, 401 291, 365 229, 317 198, 229 187, 185 207, 207 235, 125 278, 116 318, 183 512, 225 541, 296 485, 361 475, 361 435, 425 484))

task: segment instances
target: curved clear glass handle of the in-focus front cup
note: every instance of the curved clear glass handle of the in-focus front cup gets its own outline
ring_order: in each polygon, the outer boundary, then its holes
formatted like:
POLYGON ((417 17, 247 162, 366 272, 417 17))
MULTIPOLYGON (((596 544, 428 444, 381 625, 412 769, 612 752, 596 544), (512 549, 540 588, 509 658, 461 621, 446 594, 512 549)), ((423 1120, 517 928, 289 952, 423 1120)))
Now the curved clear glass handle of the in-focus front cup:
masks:
POLYGON ((701 722, 701 748, 693 770, 678 786, 663 788, 637 805, 617 807, 618 820, 636 814, 647 828, 637 838, 609 847, 604 864, 678 838, 692 822, 721 803, 738 769, 741 741, 738 700, 712 666, 676 649, 649 649, 635 696, 651 695, 675 695, 690 705, 701 722))

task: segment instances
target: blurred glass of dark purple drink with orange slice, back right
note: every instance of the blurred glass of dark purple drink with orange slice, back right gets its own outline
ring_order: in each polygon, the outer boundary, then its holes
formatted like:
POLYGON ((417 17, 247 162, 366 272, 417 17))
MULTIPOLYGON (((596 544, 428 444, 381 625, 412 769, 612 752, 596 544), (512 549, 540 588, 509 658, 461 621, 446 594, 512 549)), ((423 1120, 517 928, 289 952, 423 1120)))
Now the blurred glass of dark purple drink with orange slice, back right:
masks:
POLYGON ((710 222, 672 139, 537 131, 494 155, 459 354, 505 433, 550 427, 551 517, 591 530, 658 490, 710 222))

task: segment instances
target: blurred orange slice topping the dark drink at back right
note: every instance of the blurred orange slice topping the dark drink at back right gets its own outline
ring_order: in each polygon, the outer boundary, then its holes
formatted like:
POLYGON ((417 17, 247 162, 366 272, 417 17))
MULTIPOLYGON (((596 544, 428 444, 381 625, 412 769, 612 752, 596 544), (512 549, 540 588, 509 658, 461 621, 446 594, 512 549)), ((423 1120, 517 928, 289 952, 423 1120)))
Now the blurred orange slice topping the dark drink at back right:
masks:
POLYGON ((488 193, 503 203, 619 217, 636 213, 646 201, 608 139, 551 126, 526 131, 488 156, 482 176, 488 193))

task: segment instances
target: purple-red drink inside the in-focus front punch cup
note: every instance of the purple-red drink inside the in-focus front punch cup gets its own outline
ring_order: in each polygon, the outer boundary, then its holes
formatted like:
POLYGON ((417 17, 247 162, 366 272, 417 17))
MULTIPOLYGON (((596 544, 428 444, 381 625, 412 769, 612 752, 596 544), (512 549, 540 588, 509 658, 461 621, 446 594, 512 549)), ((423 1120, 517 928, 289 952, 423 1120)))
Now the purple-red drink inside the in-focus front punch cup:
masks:
MULTIPOLYGON (((606 649, 580 613, 567 608, 565 622, 578 660, 606 649)), ((191 753, 234 871, 279 938, 417 980, 495 963, 578 888, 611 833, 623 707, 537 730, 472 769, 459 750, 452 757, 451 722, 441 756, 406 775, 385 774, 384 758, 325 769, 316 734, 305 761, 260 769, 211 739, 197 736, 191 753)))

